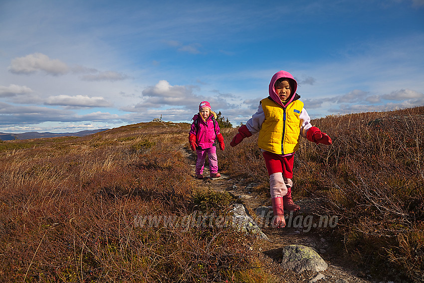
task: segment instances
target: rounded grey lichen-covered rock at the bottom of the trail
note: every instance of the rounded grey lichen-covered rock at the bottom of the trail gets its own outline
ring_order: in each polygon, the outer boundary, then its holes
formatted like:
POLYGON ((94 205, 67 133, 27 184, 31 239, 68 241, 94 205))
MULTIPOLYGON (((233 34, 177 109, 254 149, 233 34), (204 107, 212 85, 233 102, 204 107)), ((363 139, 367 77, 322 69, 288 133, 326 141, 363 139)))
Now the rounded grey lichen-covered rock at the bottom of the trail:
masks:
POLYGON ((290 245, 282 249, 281 265, 294 272, 325 271, 327 263, 313 249, 303 245, 290 245))

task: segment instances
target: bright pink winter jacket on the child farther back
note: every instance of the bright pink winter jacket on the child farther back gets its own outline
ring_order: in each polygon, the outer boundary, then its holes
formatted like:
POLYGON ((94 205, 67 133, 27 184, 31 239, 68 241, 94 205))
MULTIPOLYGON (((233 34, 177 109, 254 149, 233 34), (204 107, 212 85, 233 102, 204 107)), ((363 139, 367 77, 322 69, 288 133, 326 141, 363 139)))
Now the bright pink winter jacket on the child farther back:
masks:
POLYGON ((196 131, 196 125, 195 122, 193 122, 189 135, 196 135, 196 143, 202 149, 207 149, 214 146, 216 135, 219 134, 218 122, 215 121, 215 129, 213 129, 212 115, 209 116, 209 118, 206 120, 206 123, 199 114, 196 114, 193 117, 194 121, 196 121, 196 119, 199 119, 199 130, 196 131))

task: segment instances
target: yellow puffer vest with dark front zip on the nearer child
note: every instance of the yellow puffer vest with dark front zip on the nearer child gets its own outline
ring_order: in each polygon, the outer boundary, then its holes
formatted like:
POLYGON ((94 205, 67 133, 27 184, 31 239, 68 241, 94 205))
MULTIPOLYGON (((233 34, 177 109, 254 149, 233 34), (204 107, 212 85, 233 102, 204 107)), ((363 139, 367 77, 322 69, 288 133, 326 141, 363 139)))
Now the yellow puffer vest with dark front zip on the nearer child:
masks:
POLYGON ((261 101, 265 120, 259 131, 258 146, 276 154, 288 154, 299 149, 300 111, 303 102, 295 100, 281 107, 269 98, 261 101))

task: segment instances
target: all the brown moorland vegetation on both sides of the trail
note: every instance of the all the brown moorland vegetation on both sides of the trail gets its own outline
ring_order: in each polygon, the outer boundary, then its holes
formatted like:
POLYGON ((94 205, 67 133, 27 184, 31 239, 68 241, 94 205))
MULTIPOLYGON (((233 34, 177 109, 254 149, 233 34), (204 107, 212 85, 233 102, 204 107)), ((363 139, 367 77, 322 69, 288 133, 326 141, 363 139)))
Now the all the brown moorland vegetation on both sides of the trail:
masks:
MULTIPOLYGON (((374 275, 424 279, 424 107, 313 121, 331 146, 302 139, 294 198, 338 215, 340 257, 374 275)), ((0 143, 0 278, 5 282, 274 282, 232 227, 140 226, 137 216, 227 213, 199 192, 183 156, 190 124, 139 123, 77 138, 0 143), (209 211, 208 211, 209 210, 209 211)), ((255 136, 229 147, 222 173, 259 183, 255 136)), ((268 193, 269 194, 269 193, 268 193)), ((220 203, 216 203, 218 202, 220 203)), ((309 233, 315 233, 312 229, 309 233)), ((320 231, 322 233, 322 231, 320 231)))

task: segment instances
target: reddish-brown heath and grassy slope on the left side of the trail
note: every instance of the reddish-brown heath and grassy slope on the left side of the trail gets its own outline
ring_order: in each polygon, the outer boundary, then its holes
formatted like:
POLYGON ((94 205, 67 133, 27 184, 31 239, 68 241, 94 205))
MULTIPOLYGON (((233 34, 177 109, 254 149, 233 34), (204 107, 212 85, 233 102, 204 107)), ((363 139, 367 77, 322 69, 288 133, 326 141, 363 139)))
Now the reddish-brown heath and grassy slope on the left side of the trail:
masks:
POLYGON ((189 126, 0 143, 1 281, 211 282, 260 273, 251 269, 259 267, 247 249, 253 240, 227 227, 142 223, 190 215, 207 201, 193 193, 179 150, 189 126))

